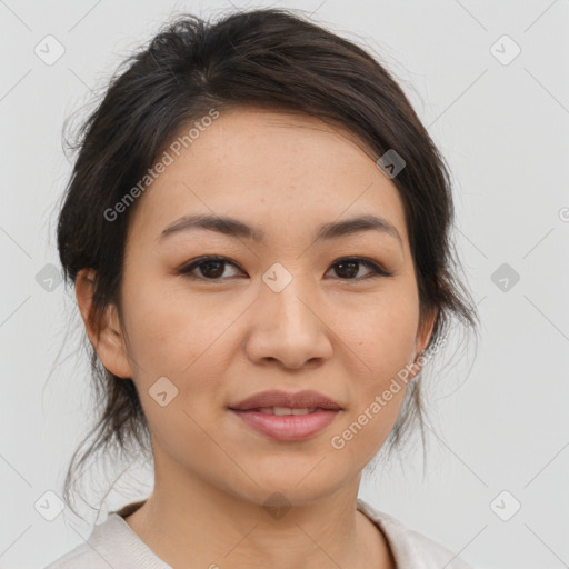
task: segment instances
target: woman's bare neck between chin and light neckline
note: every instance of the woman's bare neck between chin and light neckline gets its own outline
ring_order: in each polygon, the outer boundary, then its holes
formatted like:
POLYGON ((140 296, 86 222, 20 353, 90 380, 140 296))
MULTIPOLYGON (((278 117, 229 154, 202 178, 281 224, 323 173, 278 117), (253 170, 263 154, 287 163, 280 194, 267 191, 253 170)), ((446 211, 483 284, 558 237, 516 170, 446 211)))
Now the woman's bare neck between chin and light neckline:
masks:
MULTIPOLYGON (((356 509, 359 477, 311 503, 254 503, 184 478, 160 483, 126 521, 177 569, 393 569, 380 530, 356 509), (190 483, 189 483, 190 482, 190 483)), ((272 503, 272 502, 270 502, 272 503)))

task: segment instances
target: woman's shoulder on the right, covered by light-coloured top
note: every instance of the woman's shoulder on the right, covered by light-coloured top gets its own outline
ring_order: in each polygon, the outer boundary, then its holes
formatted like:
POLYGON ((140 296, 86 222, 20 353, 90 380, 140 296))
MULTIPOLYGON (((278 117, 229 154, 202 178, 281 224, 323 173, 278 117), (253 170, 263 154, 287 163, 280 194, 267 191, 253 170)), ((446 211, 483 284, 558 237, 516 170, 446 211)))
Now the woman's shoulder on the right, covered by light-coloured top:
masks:
POLYGON ((358 509, 370 518, 385 535, 393 552, 397 567, 473 569, 442 545, 407 528, 396 518, 376 510, 360 498, 358 498, 358 509))

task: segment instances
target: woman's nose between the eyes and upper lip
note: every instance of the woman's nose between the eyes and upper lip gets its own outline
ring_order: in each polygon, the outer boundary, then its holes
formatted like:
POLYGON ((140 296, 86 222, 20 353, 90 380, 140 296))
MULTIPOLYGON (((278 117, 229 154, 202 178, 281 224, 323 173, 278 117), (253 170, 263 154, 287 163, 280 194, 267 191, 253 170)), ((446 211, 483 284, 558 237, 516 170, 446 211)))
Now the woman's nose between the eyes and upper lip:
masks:
POLYGON ((261 284, 246 342, 254 363, 277 361, 287 369, 301 369, 331 357, 333 332, 326 323, 326 305, 300 281, 293 278, 280 292, 261 284))

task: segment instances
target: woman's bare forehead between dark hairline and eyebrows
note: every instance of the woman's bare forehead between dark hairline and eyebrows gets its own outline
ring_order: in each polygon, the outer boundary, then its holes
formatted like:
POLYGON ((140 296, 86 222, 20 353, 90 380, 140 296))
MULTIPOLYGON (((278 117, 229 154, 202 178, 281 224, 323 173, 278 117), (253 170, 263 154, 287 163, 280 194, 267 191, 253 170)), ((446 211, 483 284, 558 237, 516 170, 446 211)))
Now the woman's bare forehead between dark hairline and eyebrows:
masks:
POLYGON ((207 123, 178 153, 167 147, 172 161, 139 198, 132 231, 158 237, 180 216, 208 213, 262 223, 268 233, 273 227, 282 239, 379 214, 407 241, 399 191, 355 134, 315 117, 258 109, 223 111, 207 123))

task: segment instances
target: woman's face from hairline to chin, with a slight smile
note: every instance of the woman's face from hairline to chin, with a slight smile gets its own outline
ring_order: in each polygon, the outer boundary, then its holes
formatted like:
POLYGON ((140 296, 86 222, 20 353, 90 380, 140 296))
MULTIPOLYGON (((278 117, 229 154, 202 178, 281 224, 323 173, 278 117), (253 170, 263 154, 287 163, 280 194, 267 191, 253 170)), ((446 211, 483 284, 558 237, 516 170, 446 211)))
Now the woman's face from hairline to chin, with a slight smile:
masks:
POLYGON ((400 410, 406 382, 392 380, 430 332, 419 335, 395 184, 352 137, 280 112, 222 112, 169 152, 130 220, 128 359, 114 370, 140 395, 157 483, 189 477, 254 503, 277 491, 302 503, 359 480, 400 410), (194 216, 239 226, 180 222, 194 216), (363 216, 383 229, 333 229, 363 216), (317 391, 340 410, 233 410, 272 390, 317 391))

